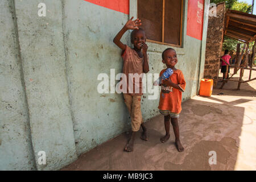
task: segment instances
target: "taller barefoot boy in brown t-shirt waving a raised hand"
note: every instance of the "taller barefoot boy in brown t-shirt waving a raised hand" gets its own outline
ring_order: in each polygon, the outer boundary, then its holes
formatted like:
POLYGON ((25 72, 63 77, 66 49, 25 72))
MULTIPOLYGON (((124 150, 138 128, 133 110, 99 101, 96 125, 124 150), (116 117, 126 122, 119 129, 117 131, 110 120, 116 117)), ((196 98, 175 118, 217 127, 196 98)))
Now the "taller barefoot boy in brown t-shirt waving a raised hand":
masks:
POLYGON ((127 152, 133 151, 135 134, 140 127, 142 127, 143 130, 141 139, 147 140, 147 129, 144 126, 141 113, 142 79, 135 78, 134 81, 134 79, 131 78, 129 81, 129 75, 131 73, 141 75, 142 73, 147 73, 149 71, 147 44, 145 43, 146 35, 141 28, 138 28, 141 24, 141 20, 133 20, 133 17, 131 17, 113 40, 113 42, 123 50, 123 73, 127 78, 127 80, 125 80, 127 92, 123 93, 123 97, 130 113, 131 129, 133 131, 124 148, 127 152), (134 44, 133 49, 120 41, 127 30, 133 30, 131 32, 131 43, 134 44))

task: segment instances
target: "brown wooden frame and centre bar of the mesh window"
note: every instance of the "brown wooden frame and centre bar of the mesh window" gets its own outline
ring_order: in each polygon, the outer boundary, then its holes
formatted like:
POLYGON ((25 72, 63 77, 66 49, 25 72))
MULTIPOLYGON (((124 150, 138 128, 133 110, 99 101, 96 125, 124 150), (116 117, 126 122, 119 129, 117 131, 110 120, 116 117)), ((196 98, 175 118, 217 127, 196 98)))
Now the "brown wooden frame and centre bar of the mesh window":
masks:
MULTIPOLYGON (((165 6, 165 0, 163 1, 163 18, 162 18, 162 42, 156 41, 156 40, 151 40, 151 39, 147 39, 148 42, 151 43, 156 43, 156 44, 162 44, 162 45, 166 45, 166 46, 173 46, 173 47, 182 47, 182 35, 183 35, 183 1, 184 0, 180 0, 181 1, 181 16, 180 16, 180 45, 176 45, 176 44, 171 44, 171 43, 165 43, 164 42, 164 6, 165 6)), ((138 14, 138 1, 137 1, 137 14, 138 14)))

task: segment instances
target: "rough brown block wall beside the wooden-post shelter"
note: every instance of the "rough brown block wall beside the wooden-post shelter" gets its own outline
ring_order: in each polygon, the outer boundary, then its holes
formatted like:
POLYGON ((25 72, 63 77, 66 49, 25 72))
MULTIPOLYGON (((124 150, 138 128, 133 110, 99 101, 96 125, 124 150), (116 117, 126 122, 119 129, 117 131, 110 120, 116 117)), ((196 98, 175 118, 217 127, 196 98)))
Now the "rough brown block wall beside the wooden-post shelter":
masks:
POLYGON ((217 85, 222 38, 224 29, 225 3, 217 4, 216 15, 209 16, 207 31, 207 46, 205 51, 204 78, 213 79, 213 86, 217 85))

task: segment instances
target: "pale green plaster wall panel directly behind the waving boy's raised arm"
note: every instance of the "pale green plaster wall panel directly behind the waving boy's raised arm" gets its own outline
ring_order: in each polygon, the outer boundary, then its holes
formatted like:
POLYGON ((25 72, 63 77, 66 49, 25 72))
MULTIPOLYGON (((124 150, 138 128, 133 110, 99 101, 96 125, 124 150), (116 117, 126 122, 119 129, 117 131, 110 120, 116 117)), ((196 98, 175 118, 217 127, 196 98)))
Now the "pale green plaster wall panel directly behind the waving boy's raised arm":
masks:
MULTIPOLYGON (((64 1, 64 35, 71 110, 78 154, 123 133, 129 126, 121 94, 97 92, 100 73, 122 72, 113 43, 128 15, 86 1, 64 1)), ((129 34, 122 39, 129 43, 129 34)), ((117 81, 116 81, 117 82, 117 81)))

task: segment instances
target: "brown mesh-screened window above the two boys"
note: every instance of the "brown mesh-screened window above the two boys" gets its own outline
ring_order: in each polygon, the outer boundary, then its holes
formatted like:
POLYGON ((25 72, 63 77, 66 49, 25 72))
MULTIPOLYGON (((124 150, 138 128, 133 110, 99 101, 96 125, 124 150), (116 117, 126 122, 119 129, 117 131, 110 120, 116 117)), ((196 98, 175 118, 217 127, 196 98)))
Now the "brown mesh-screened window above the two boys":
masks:
POLYGON ((149 42, 181 46, 183 0, 138 0, 138 18, 149 42))

